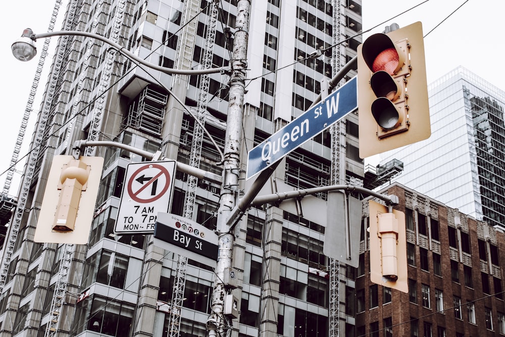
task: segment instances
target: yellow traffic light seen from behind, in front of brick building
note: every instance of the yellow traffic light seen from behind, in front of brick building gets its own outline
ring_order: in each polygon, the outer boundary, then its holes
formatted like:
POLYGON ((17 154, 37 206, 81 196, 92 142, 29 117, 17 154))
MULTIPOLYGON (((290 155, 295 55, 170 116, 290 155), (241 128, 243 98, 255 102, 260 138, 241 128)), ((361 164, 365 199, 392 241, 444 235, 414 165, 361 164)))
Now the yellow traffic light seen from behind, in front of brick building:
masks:
POLYGON ((403 293, 409 292, 405 214, 374 201, 370 211, 370 280, 403 293))

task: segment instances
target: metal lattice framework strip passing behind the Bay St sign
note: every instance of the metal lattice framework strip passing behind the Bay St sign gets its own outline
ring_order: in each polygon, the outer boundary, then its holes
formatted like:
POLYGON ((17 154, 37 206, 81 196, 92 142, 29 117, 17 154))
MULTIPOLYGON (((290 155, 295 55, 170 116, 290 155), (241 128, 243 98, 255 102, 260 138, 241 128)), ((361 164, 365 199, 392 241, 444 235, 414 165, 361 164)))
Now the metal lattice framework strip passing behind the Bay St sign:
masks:
MULTIPOLYGON (((216 26, 218 19, 218 9, 214 2, 210 5, 210 21, 207 29, 204 57, 202 61, 203 69, 212 67, 212 57, 214 53, 214 42, 216 40, 216 26)), ((189 38, 189 36, 187 36, 189 38)), ((205 124, 205 114, 207 111, 207 97, 209 94, 209 74, 203 74, 200 77, 198 102, 196 105, 196 117, 200 123, 195 123, 193 131, 193 141, 189 157, 189 166, 198 168, 200 166, 201 146, 204 140, 204 128, 200 125, 205 124)), ((193 211, 196 201, 196 185, 198 178, 188 175, 186 200, 184 203, 184 216, 188 219, 193 218, 193 211)), ((170 312, 169 337, 177 337, 180 330, 181 309, 184 298, 184 287, 186 284, 187 257, 179 255, 177 260, 177 271, 174 281, 172 296, 172 309, 170 312)))

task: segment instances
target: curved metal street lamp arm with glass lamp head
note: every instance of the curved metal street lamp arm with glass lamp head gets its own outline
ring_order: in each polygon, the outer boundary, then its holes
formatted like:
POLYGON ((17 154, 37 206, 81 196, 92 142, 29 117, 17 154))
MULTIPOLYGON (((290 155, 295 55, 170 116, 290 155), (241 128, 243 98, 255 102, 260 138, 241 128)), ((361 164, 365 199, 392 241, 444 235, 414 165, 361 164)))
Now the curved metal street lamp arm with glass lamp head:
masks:
POLYGON ((116 49, 120 53, 124 54, 128 58, 131 58, 135 62, 138 62, 146 67, 161 71, 166 74, 203 75, 203 74, 221 73, 221 72, 229 71, 231 69, 230 66, 219 67, 219 68, 210 68, 210 69, 194 69, 194 70, 173 69, 173 68, 166 68, 166 67, 157 66, 155 64, 146 62, 145 60, 139 58, 135 54, 133 54, 130 51, 128 51, 127 49, 125 49, 125 47, 108 39, 107 37, 104 37, 104 36, 98 35, 98 34, 94 34, 94 33, 77 31, 77 30, 66 30, 66 31, 56 31, 56 32, 34 34, 30 28, 27 28, 27 29, 23 30, 23 34, 21 35, 21 38, 19 38, 16 42, 14 42, 12 44, 12 46, 11 46, 12 54, 14 55, 14 57, 16 59, 18 59, 20 61, 29 61, 37 53, 37 50, 35 47, 35 41, 38 38, 45 38, 45 37, 51 37, 51 36, 63 36, 63 35, 86 36, 86 37, 91 37, 91 38, 95 38, 97 40, 103 41, 103 42, 111 45, 114 49, 116 49))

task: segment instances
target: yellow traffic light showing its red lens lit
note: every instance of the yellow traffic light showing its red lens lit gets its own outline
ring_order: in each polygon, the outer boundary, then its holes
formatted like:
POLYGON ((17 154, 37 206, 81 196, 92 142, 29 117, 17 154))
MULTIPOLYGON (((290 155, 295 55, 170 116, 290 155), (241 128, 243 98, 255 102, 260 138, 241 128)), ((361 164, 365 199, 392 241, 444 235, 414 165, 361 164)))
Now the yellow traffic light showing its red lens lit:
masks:
POLYGON ((361 158, 431 135, 421 22, 358 46, 358 112, 361 158))

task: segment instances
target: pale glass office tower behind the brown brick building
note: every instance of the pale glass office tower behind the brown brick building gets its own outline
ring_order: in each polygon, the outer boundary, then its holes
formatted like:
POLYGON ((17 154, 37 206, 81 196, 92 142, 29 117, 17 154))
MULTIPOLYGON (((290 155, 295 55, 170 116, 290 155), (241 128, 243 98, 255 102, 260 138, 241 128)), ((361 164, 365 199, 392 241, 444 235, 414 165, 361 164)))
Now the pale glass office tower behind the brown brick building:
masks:
POLYGON ((381 155, 403 162, 398 181, 505 228, 505 92, 463 67, 428 86, 431 137, 381 155))

